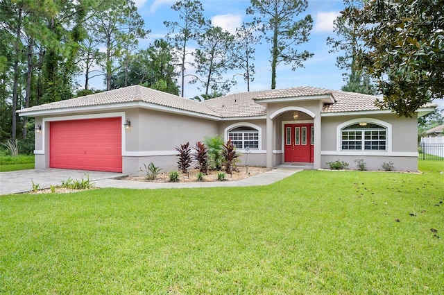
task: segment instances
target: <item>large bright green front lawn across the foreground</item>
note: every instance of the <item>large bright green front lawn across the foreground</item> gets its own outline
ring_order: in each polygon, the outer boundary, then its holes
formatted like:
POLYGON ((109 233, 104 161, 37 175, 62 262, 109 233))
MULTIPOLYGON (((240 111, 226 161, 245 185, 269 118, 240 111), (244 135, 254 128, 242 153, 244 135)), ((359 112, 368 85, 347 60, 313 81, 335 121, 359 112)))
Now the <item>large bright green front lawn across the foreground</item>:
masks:
POLYGON ((3 196, 0 294, 443 294, 443 162, 420 169, 3 196))

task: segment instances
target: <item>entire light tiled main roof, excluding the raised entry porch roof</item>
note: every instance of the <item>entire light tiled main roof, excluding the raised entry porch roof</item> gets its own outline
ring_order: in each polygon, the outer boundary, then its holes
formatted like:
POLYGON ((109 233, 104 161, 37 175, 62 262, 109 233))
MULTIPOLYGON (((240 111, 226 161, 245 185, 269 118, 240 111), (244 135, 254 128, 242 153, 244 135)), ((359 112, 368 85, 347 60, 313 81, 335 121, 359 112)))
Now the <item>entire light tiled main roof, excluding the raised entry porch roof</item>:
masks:
POLYGON ((259 102, 263 99, 284 99, 319 95, 332 96, 335 101, 331 104, 325 104, 322 110, 323 113, 379 110, 379 108, 375 106, 377 96, 328 90, 317 87, 293 87, 282 90, 241 92, 198 102, 190 99, 183 99, 180 96, 160 92, 151 88, 134 85, 107 92, 81 96, 75 99, 46 103, 44 105, 22 109, 17 112, 58 110, 84 106, 106 106, 117 103, 144 101, 158 106, 166 106, 214 117, 255 117, 266 115, 266 108, 255 101, 259 102))

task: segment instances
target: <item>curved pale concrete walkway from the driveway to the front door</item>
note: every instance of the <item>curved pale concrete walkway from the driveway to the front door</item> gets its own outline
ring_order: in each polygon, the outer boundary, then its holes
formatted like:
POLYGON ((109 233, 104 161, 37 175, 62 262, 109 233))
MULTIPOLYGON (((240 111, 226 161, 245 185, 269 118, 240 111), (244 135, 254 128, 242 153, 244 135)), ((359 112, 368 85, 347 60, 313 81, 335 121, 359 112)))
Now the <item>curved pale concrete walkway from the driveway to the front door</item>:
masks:
POLYGON ((101 179, 96 180, 95 187, 114 187, 122 189, 180 189, 189 187, 250 187, 256 185, 271 185, 279 180, 287 178, 302 168, 280 167, 271 171, 251 176, 237 181, 213 181, 195 183, 148 183, 133 180, 101 179))

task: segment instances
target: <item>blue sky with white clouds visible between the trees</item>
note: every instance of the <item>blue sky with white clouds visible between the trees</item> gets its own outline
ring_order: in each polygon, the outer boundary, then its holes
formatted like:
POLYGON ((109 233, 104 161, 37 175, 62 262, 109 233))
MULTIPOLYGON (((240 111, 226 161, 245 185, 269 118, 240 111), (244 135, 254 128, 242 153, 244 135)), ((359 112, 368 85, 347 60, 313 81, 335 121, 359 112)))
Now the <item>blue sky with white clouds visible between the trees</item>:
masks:
MULTIPOLYGON (((178 18, 178 13, 171 9, 177 0, 133 0, 136 3, 139 15, 145 21, 145 28, 151 29, 151 34, 144 40, 139 40, 139 47, 146 49, 155 39, 164 37, 168 30, 164 26, 165 20, 171 21, 178 18)), ((246 8, 250 6, 249 0, 200 0, 203 4, 204 17, 211 19, 214 26, 234 32, 242 22, 251 20, 251 15, 246 15, 246 8)), ((336 67, 336 56, 341 53, 329 53, 326 39, 334 37, 333 21, 339 12, 343 10, 342 0, 308 0, 309 13, 314 20, 314 29, 311 31, 309 42, 302 44, 297 49, 307 50, 314 56, 305 62, 304 68, 291 71, 291 65, 279 65, 277 69, 277 88, 314 86, 332 90, 340 90, 344 85, 343 76, 336 67)), ((190 44, 190 50, 196 48, 196 44, 190 44)), ((250 90, 268 90, 271 88, 271 65, 269 62, 270 46, 262 40, 258 44, 255 53, 255 81, 250 83, 250 90)), ((193 69, 189 69, 192 72, 193 69)), ((232 76, 234 73, 229 73, 232 76)), ((92 87, 103 89, 103 79, 96 78, 92 81, 92 87)), ((185 97, 193 97, 201 94, 198 85, 185 85, 185 97)), ((237 85, 231 88, 230 93, 245 92, 246 83, 242 78, 237 79, 237 85)), ((436 101, 441 108, 444 100, 436 101)))

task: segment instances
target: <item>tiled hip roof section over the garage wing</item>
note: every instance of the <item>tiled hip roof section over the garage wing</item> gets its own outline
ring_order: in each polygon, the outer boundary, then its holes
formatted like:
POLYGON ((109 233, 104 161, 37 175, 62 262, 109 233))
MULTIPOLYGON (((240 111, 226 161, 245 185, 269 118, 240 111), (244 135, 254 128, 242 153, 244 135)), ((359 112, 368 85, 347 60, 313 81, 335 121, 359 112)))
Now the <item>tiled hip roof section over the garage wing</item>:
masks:
POLYGON ((154 103, 159 106, 167 106, 177 108, 179 110, 188 110, 204 115, 219 117, 219 114, 210 110, 210 108, 207 108, 205 105, 203 105, 203 103, 192 101, 190 99, 183 99, 180 96, 153 90, 140 85, 128 86, 106 92, 90 94, 87 96, 80 96, 76 97, 75 99, 67 99, 65 101, 46 103, 44 105, 22 109, 18 112, 35 112, 40 110, 57 110, 62 108, 110 105, 113 103, 127 103, 132 101, 144 101, 147 103, 154 103))

